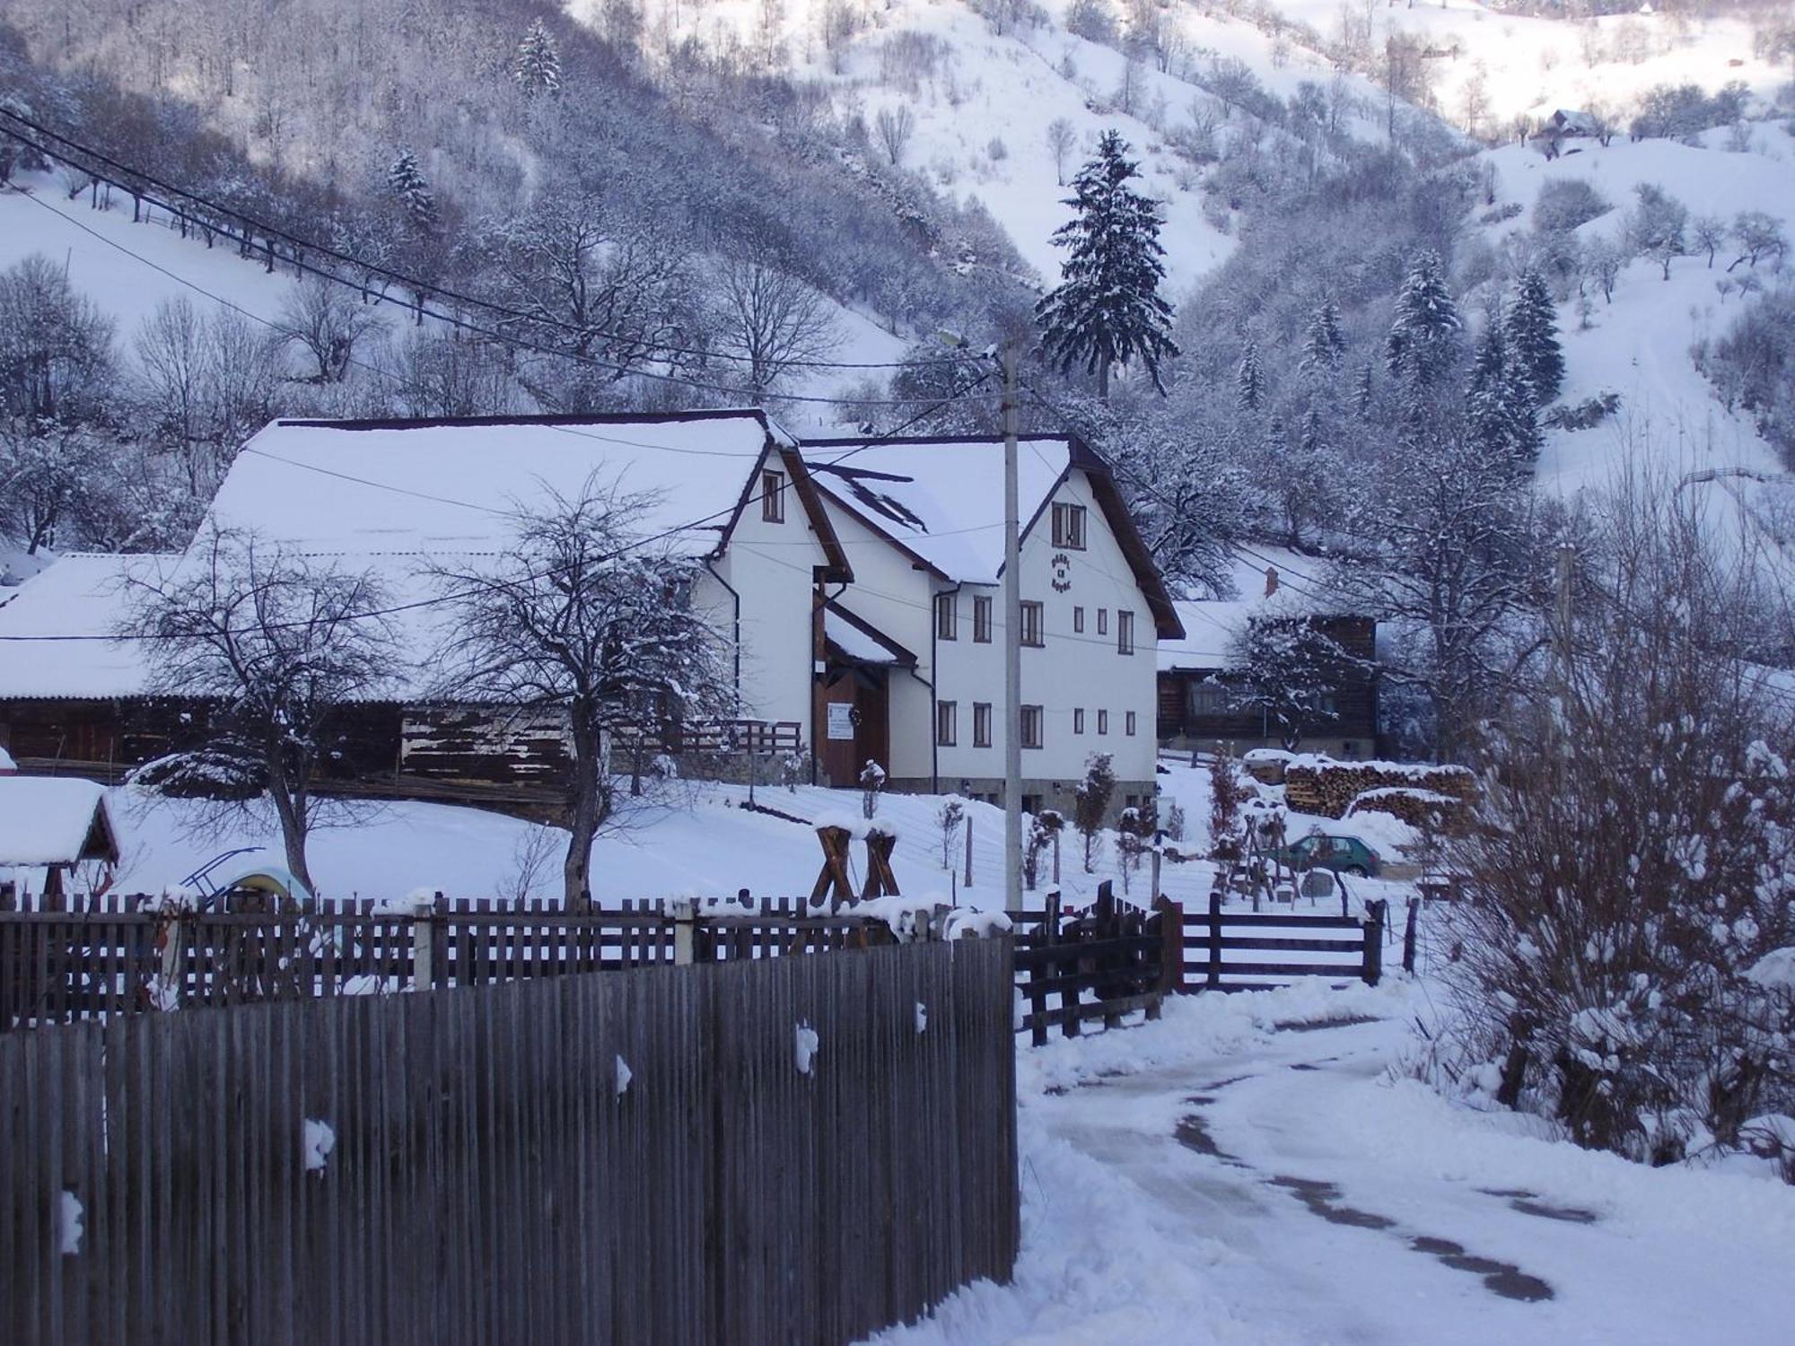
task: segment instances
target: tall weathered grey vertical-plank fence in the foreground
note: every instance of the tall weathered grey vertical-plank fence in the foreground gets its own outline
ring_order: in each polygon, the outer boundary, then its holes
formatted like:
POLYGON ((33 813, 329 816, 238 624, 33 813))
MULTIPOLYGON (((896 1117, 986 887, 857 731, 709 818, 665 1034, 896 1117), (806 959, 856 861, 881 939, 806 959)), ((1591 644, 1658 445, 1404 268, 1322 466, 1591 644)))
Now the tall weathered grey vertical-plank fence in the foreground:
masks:
POLYGON ((969 939, 9 1034, 0 1341, 915 1319, 1014 1267, 1012 975, 969 939))

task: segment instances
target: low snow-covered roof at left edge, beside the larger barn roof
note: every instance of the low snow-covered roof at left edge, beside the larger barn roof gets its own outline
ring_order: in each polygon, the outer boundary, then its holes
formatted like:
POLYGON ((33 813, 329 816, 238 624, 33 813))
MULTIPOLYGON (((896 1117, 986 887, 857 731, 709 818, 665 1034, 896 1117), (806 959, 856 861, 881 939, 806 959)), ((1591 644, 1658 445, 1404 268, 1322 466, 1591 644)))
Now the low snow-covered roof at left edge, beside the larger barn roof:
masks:
POLYGON ((138 646, 92 637, 117 630, 133 567, 172 562, 172 556, 70 555, 16 589, 0 590, 0 696, 142 693, 147 673, 138 646))

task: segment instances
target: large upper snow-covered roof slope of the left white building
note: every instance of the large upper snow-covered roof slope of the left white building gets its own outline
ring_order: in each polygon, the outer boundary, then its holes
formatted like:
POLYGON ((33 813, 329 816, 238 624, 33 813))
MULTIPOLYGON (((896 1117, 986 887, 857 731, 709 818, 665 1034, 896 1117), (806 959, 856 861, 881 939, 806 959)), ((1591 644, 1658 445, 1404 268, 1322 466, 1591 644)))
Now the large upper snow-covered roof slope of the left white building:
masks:
POLYGON ((208 520, 302 553, 468 555, 501 551, 519 510, 594 481, 646 497, 641 531, 702 556, 768 443, 790 436, 759 411, 276 420, 237 454, 208 520))

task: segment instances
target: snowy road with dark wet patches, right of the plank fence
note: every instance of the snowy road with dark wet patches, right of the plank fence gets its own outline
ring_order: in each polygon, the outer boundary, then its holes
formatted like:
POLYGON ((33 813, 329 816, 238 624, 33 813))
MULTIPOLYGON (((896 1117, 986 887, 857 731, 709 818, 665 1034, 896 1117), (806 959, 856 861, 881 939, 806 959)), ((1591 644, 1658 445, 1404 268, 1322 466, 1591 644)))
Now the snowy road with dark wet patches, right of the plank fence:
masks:
POLYGON ((1791 1339, 1795 1190, 1449 1107, 1391 1071, 1409 989, 1327 996, 1025 1052, 1016 1283, 889 1341, 1791 1339))

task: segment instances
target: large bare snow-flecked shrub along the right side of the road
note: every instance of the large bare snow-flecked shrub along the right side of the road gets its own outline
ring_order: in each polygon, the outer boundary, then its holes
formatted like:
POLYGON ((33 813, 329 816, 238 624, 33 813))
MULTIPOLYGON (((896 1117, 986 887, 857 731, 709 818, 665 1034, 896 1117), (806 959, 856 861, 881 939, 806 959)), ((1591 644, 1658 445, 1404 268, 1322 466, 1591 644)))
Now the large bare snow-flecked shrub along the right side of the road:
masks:
POLYGON ((1732 653, 1786 635, 1693 508, 1655 483, 1605 506, 1569 673, 1490 743, 1443 1066, 1659 1163, 1795 1113, 1795 775, 1766 747, 1795 725, 1732 653))

